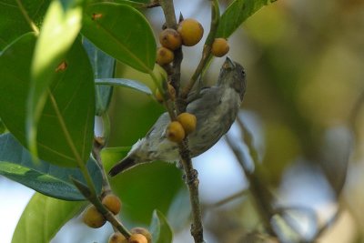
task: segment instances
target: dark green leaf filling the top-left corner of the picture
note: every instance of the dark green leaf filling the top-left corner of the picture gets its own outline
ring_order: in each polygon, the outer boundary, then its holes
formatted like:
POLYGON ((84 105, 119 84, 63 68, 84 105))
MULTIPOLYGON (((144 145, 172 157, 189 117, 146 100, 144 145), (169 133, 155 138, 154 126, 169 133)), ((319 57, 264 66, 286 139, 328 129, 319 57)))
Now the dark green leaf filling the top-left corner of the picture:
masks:
POLYGON ((33 31, 26 16, 39 27, 49 3, 44 0, 0 0, 0 50, 33 31))

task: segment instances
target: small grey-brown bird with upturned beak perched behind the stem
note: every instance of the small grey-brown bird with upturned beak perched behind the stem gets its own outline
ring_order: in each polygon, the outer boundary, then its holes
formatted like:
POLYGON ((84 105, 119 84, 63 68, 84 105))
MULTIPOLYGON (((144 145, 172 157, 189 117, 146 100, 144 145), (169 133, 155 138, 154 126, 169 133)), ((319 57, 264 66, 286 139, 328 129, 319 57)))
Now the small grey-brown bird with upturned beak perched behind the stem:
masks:
MULTIPOLYGON (((214 146, 224 136, 238 116, 238 109, 247 88, 244 67, 226 58, 220 68, 215 86, 201 88, 187 96, 186 111, 197 117, 196 130, 188 135, 191 157, 197 157, 214 146)), ((158 117, 156 123, 139 139, 129 153, 109 171, 111 177, 138 164, 163 160, 179 160, 178 144, 167 138, 167 127, 171 122, 167 112, 158 117)))

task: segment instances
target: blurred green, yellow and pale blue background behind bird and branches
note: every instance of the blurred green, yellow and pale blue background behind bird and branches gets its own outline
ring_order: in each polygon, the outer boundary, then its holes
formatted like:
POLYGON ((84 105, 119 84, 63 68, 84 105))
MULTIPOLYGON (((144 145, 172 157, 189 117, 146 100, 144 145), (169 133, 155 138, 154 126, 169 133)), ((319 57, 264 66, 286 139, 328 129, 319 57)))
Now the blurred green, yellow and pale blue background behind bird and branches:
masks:
MULTIPOLYGON (((189 2, 176 0, 176 13, 196 18, 206 38, 208 1, 189 2)), ((219 2, 223 12, 229 1, 219 2)), ((146 15, 157 36, 162 11, 146 15)), ((248 91, 228 139, 194 159, 207 242, 364 242, 363 16, 361 0, 279 0, 228 39, 228 56, 245 67, 248 91)), ((197 66, 202 43, 184 47, 183 81, 197 66)), ((206 84, 217 80, 223 61, 213 61, 206 84)), ((155 89, 148 76, 126 66, 117 66, 117 76, 155 89)), ((130 147, 163 111, 150 96, 116 88, 108 147, 130 147)), ((108 168, 121 154, 109 149, 104 157, 108 168)), ((158 208, 175 229, 174 242, 193 242, 177 167, 148 164, 111 183, 128 227, 147 227, 158 208)), ((0 242, 11 241, 32 194, 0 177, 0 242), (9 194, 11 200, 3 197, 9 194)), ((75 218, 53 242, 106 242, 111 231, 88 229, 75 218)))

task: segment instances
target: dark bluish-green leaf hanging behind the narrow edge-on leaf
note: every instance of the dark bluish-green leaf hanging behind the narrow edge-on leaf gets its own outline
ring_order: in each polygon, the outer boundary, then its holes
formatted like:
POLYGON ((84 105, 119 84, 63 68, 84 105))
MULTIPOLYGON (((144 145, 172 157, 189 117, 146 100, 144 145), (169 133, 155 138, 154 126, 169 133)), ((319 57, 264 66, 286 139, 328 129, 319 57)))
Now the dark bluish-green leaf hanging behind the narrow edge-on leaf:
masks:
MULTIPOLYGON (((115 59, 99 50, 86 38, 83 38, 83 45, 90 58, 95 78, 113 77, 115 59)), ((112 86, 96 86, 96 116, 101 116, 107 111, 112 94, 112 86)))

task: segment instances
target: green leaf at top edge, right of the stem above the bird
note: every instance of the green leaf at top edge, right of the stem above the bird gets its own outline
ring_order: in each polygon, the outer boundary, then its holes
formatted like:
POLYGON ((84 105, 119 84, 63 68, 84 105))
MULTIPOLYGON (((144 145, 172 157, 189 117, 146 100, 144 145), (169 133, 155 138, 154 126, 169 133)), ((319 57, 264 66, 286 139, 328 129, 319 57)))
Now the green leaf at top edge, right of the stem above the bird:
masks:
POLYGON ((260 8, 277 0, 235 0, 221 15, 217 28, 217 37, 227 38, 237 30, 250 15, 260 8))

